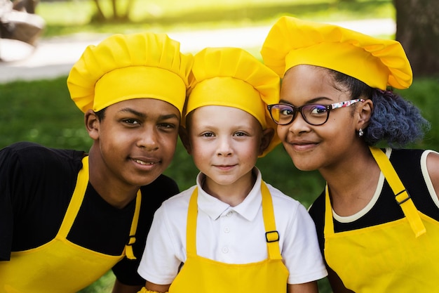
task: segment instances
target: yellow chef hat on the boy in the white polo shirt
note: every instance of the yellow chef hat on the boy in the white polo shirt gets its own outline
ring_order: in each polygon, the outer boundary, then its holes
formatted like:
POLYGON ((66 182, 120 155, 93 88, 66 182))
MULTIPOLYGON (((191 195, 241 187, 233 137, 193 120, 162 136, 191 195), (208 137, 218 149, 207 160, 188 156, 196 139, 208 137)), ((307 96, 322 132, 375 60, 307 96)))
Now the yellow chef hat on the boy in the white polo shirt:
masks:
POLYGON ((247 51, 205 48, 194 56, 183 125, 189 112, 206 105, 244 110, 254 116, 263 129, 275 131, 263 157, 281 142, 276 135, 277 126, 266 108, 266 105, 279 102, 279 86, 277 74, 247 51))

